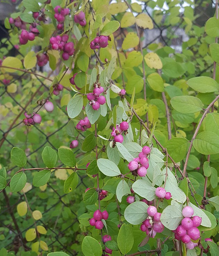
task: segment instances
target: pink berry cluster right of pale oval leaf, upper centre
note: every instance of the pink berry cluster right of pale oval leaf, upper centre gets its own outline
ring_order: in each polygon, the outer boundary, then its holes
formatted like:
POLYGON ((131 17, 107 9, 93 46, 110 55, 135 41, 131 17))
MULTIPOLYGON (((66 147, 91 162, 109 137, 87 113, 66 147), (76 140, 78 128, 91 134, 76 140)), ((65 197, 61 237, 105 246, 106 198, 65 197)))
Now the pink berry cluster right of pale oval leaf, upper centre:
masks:
POLYGON ((100 105, 104 105, 106 103, 106 98, 103 95, 100 95, 104 92, 104 88, 100 86, 100 84, 94 84, 94 90, 93 93, 87 94, 87 99, 90 101, 90 105, 92 106, 92 109, 98 110, 100 108, 100 105))

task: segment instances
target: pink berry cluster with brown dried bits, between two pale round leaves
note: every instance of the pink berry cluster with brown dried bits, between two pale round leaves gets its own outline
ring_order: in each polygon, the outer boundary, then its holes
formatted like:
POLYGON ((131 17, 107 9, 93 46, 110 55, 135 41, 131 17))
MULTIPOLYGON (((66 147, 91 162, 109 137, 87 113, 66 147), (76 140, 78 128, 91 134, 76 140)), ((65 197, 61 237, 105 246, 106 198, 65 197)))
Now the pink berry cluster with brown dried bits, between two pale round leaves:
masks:
POLYGON ((161 233, 164 230, 164 225, 160 221, 161 213, 157 212, 155 206, 149 206, 147 208, 147 218, 140 226, 140 230, 146 232, 146 234, 152 238, 156 233, 161 233))

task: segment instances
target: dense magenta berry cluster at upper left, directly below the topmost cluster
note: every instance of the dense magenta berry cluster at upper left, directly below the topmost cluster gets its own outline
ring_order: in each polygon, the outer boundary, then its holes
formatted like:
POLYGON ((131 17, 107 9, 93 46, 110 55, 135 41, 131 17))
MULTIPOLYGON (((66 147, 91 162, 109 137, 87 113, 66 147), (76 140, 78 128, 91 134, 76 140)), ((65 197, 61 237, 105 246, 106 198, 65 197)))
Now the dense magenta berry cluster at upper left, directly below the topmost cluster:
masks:
POLYGON ((62 58, 64 61, 68 60, 69 56, 72 56, 74 53, 74 44, 73 42, 67 42, 68 38, 68 35, 64 34, 62 37, 51 37, 49 40, 53 50, 63 51, 62 58))

